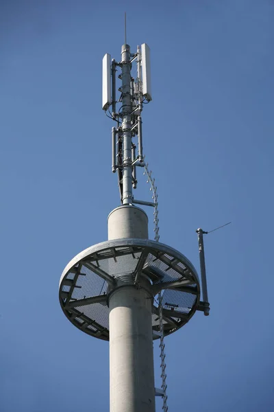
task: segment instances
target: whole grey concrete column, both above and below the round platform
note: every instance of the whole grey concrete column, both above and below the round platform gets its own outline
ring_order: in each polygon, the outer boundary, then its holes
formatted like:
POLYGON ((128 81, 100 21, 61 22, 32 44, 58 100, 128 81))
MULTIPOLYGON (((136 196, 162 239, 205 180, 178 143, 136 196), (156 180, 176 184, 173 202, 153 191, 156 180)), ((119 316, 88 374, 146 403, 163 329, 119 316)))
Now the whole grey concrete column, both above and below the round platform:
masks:
MULTIPOLYGON (((134 206, 114 209, 109 240, 147 238, 147 215, 134 206)), ((132 273, 110 292, 110 412, 155 412, 150 282, 132 273)))

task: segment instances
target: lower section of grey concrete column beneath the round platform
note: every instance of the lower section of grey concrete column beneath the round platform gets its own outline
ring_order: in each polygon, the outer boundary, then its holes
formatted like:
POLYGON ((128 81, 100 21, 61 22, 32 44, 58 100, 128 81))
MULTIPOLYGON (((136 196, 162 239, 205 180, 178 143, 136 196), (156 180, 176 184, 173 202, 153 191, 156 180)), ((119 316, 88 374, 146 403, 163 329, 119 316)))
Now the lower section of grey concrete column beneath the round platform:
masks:
POLYGON ((110 412, 155 412, 151 297, 123 286, 110 295, 110 412))

